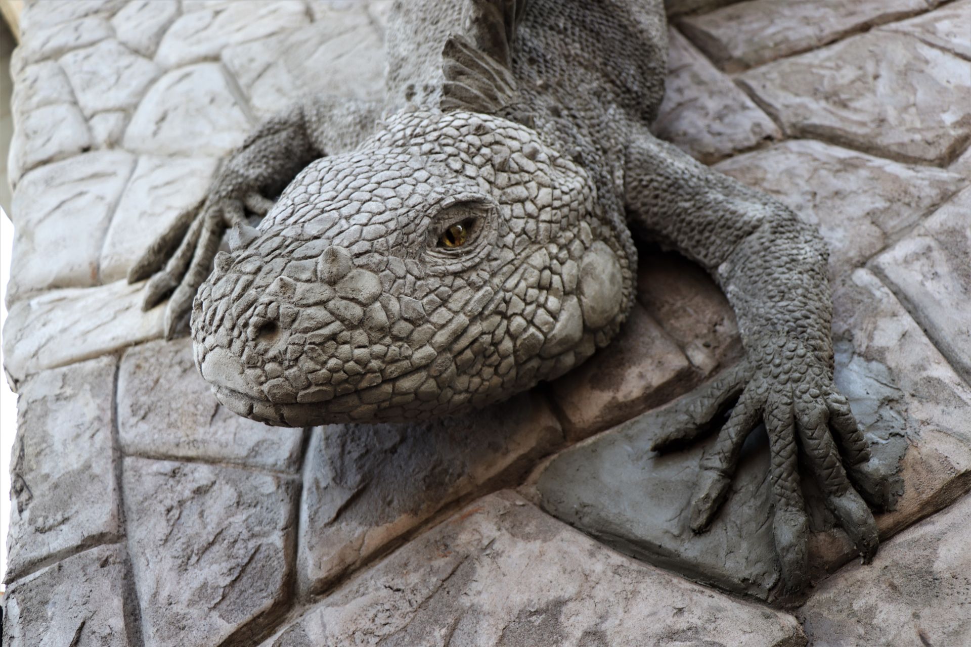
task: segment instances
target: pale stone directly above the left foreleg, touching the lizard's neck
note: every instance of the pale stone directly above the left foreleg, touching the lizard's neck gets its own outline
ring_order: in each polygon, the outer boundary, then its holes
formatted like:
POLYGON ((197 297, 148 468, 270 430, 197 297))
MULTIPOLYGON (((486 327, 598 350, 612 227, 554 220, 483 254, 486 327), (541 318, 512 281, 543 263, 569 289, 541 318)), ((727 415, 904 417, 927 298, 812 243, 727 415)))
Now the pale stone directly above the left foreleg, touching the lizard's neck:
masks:
POLYGON ((335 15, 222 52, 254 113, 278 113, 302 93, 375 100, 384 96, 384 45, 364 7, 335 15))

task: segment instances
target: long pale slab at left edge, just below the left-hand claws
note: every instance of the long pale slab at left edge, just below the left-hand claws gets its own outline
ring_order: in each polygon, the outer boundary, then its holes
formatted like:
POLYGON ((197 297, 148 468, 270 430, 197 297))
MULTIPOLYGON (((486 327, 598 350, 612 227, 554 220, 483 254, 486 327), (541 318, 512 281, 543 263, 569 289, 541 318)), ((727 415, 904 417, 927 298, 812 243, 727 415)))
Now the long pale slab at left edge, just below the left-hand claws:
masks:
POLYGON ((164 305, 142 311, 145 283, 51 290, 10 308, 3 329, 11 388, 25 376, 162 337, 164 305))

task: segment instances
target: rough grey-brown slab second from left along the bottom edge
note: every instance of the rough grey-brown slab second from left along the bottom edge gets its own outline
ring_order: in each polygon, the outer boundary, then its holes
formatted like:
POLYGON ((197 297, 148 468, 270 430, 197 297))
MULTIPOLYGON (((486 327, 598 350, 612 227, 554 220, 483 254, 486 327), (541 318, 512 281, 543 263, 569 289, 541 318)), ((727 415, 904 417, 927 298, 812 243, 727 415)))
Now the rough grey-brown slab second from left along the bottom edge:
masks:
POLYGON ((147 645, 245 644, 285 610, 293 480, 126 458, 122 481, 147 645))

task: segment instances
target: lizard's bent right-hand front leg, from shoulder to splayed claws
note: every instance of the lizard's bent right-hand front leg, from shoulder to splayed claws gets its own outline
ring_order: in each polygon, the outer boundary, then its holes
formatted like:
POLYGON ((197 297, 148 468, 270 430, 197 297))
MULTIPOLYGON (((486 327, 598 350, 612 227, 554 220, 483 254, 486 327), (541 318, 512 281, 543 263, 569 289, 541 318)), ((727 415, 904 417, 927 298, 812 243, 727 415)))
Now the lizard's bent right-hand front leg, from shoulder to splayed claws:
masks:
POLYGON ((782 204, 698 164, 649 134, 628 148, 625 192, 632 229, 674 247, 720 283, 735 310, 746 360, 683 404, 683 420, 654 449, 692 440, 737 398, 701 461, 690 526, 704 531, 723 501, 742 444, 768 431, 773 531, 790 590, 808 579, 808 520, 797 455, 865 561, 876 552, 875 505, 887 503, 847 400, 833 384, 827 252, 818 232, 782 204), (849 473, 848 473, 849 472, 849 473))

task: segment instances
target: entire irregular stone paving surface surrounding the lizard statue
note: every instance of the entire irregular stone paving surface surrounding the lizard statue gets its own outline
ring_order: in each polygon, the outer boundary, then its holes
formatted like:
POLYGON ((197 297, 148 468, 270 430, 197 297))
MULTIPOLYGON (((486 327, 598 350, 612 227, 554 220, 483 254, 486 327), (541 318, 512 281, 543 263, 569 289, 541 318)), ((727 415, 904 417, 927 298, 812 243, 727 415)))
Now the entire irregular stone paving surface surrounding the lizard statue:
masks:
POLYGON ((836 380, 906 483, 872 565, 814 508, 814 587, 780 598, 764 437, 686 532, 700 448, 644 447, 741 350, 714 283, 648 247, 621 338, 512 405, 224 410, 121 279, 289 97, 380 96, 388 3, 51 0, 12 63, 4 644, 971 644, 971 0, 666 4, 657 134, 831 247, 836 380))

